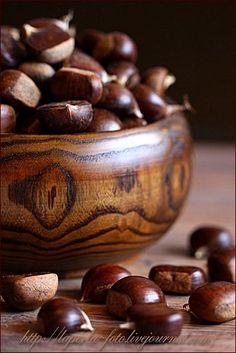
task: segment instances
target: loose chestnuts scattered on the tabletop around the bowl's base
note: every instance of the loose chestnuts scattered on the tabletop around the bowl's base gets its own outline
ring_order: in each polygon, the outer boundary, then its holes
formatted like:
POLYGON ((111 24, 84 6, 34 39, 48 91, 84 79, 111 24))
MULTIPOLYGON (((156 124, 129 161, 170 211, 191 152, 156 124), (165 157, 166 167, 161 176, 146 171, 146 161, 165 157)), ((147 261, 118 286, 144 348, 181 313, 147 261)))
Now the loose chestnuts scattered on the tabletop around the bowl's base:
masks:
MULTIPOLYGON (((164 337, 172 342, 183 327, 183 310, 203 323, 223 323, 235 318, 235 248, 231 234, 218 227, 201 227, 190 236, 189 249, 196 258, 208 257, 208 279, 200 267, 157 265, 148 277, 132 275, 115 264, 97 265, 84 275, 80 302, 105 304, 119 320, 122 330, 139 335, 164 337), (188 295, 188 304, 176 310, 165 294, 188 295)), ((56 274, 6 275, 1 278, 2 297, 19 310, 40 308, 39 332, 53 337, 60 333, 93 331, 77 300, 54 298, 56 274)))

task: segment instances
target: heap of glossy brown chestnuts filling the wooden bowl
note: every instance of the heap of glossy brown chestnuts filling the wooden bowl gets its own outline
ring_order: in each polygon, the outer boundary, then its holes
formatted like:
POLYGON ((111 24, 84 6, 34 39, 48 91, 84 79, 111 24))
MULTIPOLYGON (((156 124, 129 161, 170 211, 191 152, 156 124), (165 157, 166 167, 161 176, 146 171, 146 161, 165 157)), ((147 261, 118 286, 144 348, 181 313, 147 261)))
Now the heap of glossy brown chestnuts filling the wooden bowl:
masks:
POLYGON ((71 13, 1 27, 1 132, 71 134, 145 126, 176 111, 164 67, 142 75, 137 47, 121 32, 76 34, 71 13))

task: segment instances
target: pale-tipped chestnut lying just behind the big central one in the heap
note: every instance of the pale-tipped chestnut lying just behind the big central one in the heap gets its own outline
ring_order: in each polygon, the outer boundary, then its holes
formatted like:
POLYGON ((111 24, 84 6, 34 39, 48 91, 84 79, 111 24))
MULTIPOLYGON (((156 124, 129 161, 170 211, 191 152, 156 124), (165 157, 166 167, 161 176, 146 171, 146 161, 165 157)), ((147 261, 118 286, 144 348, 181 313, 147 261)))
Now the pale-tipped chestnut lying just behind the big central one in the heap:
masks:
POLYGON ((73 53, 71 56, 69 56, 63 63, 64 67, 75 67, 77 69, 81 70, 88 70, 88 71, 93 71, 96 72, 103 83, 110 82, 112 80, 116 79, 116 76, 114 75, 108 75, 108 73, 104 70, 102 65, 89 56, 88 54, 83 53, 79 49, 74 49, 73 53))

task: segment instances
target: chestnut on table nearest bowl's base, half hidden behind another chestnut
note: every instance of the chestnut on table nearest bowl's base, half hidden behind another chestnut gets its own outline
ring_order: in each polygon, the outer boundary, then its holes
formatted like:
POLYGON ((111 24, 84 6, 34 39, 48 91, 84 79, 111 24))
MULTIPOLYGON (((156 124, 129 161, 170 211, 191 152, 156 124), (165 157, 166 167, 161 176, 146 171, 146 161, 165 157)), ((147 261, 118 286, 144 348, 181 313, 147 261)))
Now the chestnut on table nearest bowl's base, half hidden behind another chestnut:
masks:
POLYGON ((81 284, 82 301, 106 303, 108 289, 131 273, 124 267, 114 264, 101 264, 92 267, 83 277, 81 284))

